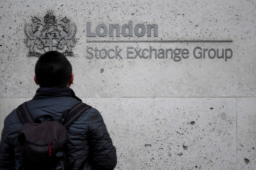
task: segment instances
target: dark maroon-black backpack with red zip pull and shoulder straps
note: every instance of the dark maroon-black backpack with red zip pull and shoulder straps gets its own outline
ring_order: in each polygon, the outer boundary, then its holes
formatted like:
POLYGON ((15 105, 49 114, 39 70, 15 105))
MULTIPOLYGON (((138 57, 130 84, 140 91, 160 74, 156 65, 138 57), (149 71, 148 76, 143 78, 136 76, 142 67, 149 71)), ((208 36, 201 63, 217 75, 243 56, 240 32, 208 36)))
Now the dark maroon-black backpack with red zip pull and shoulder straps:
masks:
POLYGON ((18 133, 20 169, 71 169, 75 160, 67 154, 67 128, 88 108, 91 106, 80 102, 64 111, 61 122, 58 122, 52 115, 40 115, 34 119, 28 111, 27 102, 21 104, 17 108, 17 115, 23 125, 18 133), (42 119, 47 121, 41 122, 42 119))

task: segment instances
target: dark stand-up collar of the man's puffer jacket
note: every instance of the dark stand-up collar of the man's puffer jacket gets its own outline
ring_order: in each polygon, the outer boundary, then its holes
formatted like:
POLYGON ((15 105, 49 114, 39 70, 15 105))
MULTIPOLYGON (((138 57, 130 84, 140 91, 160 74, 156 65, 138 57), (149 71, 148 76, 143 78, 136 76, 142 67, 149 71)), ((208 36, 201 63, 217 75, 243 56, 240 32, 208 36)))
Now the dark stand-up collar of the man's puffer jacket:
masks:
POLYGON ((82 101, 76 97, 75 92, 69 87, 40 87, 36 90, 33 100, 63 96, 73 97, 78 101, 82 101))

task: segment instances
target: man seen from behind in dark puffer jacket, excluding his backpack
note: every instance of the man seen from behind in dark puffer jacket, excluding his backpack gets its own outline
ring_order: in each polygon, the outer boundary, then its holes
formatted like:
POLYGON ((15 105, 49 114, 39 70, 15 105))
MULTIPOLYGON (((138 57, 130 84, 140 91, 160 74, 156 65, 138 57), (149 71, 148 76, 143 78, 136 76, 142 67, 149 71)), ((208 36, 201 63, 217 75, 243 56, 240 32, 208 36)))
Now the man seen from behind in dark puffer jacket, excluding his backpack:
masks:
MULTIPOLYGON (((67 58, 60 52, 50 51, 36 63, 34 80, 40 86, 28 110, 35 119, 39 115, 52 115, 61 121, 62 113, 81 100, 70 89, 74 74, 67 58)), ((0 142, 0 169, 18 169, 20 144, 17 136, 22 127, 17 109, 4 120, 0 142)), ((116 148, 112 144, 102 116, 95 108, 89 108, 68 128, 68 154, 76 162, 73 170, 104 170, 116 166, 116 148)))

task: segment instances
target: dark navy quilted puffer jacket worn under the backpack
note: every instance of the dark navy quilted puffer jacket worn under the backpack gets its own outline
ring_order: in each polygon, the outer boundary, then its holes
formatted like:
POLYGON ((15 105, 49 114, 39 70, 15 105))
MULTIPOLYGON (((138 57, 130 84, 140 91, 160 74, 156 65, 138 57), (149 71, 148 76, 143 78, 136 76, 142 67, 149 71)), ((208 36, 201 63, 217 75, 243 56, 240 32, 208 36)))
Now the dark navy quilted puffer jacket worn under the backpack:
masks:
MULTIPOLYGON (((62 112, 81 100, 72 89, 39 88, 35 97, 27 102, 28 110, 36 118, 53 115, 62 119, 62 112)), ((16 109, 4 120, 0 142, 0 169, 16 169, 20 162, 18 131, 22 127, 16 109)), ((87 109, 68 128, 68 152, 76 159, 73 170, 104 170, 116 166, 116 148, 112 144, 102 116, 95 108, 87 109)))

